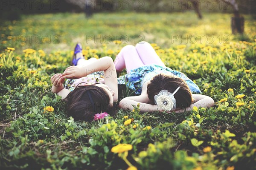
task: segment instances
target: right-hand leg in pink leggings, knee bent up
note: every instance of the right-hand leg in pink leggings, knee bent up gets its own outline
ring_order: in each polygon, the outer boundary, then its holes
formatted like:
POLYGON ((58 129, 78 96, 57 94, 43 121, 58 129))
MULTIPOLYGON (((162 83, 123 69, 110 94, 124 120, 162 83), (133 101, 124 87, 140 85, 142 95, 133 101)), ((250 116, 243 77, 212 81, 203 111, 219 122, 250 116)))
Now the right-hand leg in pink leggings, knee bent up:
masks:
POLYGON ((154 48, 148 42, 139 42, 135 47, 144 65, 156 64, 166 67, 156 51, 154 51, 154 48))

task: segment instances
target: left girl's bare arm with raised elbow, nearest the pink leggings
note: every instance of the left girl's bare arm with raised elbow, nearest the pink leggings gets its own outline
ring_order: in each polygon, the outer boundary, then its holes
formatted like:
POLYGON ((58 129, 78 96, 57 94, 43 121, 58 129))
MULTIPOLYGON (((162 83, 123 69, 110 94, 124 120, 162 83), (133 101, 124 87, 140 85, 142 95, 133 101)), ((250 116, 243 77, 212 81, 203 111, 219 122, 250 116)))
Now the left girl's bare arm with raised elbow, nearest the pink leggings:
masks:
POLYGON ((79 79, 96 71, 104 71, 105 85, 108 85, 108 87, 115 92, 113 96, 113 101, 117 102, 117 75, 115 65, 111 57, 102 57, 84 67, 70 66, 64 71, 62 76, 63 78, 79 79))

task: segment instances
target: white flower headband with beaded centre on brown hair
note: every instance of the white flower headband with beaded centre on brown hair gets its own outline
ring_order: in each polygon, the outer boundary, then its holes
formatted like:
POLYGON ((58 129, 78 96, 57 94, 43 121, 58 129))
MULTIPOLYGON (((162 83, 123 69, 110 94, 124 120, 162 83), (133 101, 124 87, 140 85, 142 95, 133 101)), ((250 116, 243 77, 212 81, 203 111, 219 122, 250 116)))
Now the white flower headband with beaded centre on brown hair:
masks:
POLYGON ((174 94, 180 89, 180 86, 173 92, 170 93, 167 90, 162 90, 159 94, 154 96, 155 104, 164 111, 171 111, 172 108, 176 108, 176 100, 174 94))

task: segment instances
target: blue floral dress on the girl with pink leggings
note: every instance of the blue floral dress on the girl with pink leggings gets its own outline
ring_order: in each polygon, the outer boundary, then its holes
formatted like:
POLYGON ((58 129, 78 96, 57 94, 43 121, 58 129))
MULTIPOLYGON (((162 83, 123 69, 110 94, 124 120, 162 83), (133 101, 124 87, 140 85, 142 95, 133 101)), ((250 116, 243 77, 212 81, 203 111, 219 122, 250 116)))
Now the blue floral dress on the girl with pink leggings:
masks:
POLYGON ((162 67, 160 65, 144 65, 139 68, 135 68, 130 71, 129 74, 126 74, 125 76, 122 76, 122 79, 119 78, 119 84, 123 84, 126 81, 127 88, 135 91, 136 95, 141 94, 142 86, 143 84, 150 80, 152 77, 154 77, 157 74, 165 73, 165 74, 174 74, 177 77, 182 78, 186 81, 187 85, 189 86, 189 89, 192 93, 202 93, 198 87, 189 77, 186 77, 185 74, 183 74, 180 71, 172 70, 168 67, 162 67), (125 80, 125 81, 124 81, 125 80))

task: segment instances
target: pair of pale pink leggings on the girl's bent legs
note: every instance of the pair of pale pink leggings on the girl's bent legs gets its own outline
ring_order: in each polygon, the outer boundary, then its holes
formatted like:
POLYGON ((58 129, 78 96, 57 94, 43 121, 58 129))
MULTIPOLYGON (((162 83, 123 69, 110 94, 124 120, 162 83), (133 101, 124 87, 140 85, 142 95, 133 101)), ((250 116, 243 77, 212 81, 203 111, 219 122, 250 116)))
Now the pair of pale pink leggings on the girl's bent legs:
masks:
POLYGON ((116 55, 114 63, 117 72, 121 72, 124 68, 126 68, 127 72, 130 72, 134 68, 150 64, 165 67, 154 48, 145 41, 137 43, 135 47, 133 45, 123 47, 119 54, 116 55))

